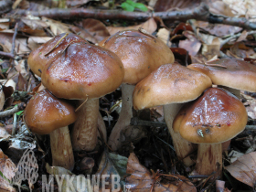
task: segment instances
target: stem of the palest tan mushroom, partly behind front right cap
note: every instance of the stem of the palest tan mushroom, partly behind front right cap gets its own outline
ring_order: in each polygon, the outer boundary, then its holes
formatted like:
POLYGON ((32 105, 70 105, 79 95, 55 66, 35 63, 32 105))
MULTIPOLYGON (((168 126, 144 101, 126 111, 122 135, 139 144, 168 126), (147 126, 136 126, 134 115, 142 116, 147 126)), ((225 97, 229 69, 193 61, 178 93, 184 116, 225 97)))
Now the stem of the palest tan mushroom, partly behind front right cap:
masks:
POLYGON ((168 127, 169 133, 172 136, 178 159, 182 160, 184 165, 190 166, 194 164, 194 161, 189 157, 189 155, 196 150, 195 145, 188 142, 179 133, 175 133, 173 130, 174 119, 182 106, 183 104, 181 103, 164 105, 165 123, 168 127))

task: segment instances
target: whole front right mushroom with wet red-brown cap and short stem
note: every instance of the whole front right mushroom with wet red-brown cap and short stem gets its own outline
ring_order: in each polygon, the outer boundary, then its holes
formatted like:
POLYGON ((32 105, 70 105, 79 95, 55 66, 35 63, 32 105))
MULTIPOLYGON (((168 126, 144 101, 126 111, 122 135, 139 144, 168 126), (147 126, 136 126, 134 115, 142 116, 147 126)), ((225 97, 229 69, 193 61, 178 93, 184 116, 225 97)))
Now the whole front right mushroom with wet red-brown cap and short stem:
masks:
POLYGON ((216 176, 221 176, 221 143, 242 132, 246 123, 247 112, 240 100, 228 91, 209 88, 178 112, 174 131, 198 144, 197 174, 210 175, 215 171, 216 176))

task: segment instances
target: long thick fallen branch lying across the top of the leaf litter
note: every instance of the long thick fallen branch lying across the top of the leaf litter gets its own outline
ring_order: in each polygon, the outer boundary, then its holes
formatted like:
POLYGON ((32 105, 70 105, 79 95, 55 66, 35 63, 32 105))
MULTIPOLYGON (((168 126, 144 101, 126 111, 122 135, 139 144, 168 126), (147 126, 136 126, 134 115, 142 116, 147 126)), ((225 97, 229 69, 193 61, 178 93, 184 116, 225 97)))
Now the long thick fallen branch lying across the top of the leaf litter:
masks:
POLYGON ((16 15, 32 15, 32 16, 46 16, 54 19, 77 19, 77 18, 95 18, 95 19, 122 19, 122 20, 136 20, 145 21, 151 17, 159 16, 163 20, 187 21, 188 19, 197 19, 200 21, 208 21, 215 24, 226 24, 229 26, 238 26, 247 29, 256 29, 256 23, 250 22, 246 18, 217 16, 209 12, 208 5, 200 4, 194 9, 187 9, 172 12, 127 12, 120 10, 99 10, 99 9, 85 9, 85 8, 69 8, 69 9, 48 9, 43 11, 26 11, 15 10, 16 15))

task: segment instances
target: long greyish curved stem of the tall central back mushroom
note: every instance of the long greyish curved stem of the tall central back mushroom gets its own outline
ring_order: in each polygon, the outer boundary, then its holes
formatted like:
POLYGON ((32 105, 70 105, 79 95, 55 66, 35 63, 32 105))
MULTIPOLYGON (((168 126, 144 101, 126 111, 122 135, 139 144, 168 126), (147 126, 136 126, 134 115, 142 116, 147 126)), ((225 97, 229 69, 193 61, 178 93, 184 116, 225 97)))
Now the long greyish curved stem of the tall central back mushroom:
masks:
POLYGON ((134 88, 134 85, 122 84, 122 109, 117 123, 115 123, 114 127, 112 128, 112 133, 108 142, 113 151, 116 151, 121 147, 120 133, 131 123, 131 119, 133 117, 134 88))

